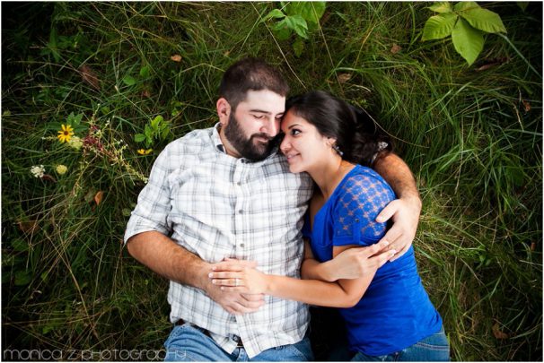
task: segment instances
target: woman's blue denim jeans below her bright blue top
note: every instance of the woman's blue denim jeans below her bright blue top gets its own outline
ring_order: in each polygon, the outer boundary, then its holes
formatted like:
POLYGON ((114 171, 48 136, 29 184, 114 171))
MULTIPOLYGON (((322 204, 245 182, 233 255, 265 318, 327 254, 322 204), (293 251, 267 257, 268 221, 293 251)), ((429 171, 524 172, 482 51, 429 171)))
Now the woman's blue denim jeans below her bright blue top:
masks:
POLYGON ((434 333, 421 341, 417 341, 416 344, 404 350, 399 350, 384 356, 368 356, 363 352, 358 351, 351 360, 357 362, 446 362, 450 360, 450 344, 448 343, 448 338, 442 328, 440 332, 434 333))

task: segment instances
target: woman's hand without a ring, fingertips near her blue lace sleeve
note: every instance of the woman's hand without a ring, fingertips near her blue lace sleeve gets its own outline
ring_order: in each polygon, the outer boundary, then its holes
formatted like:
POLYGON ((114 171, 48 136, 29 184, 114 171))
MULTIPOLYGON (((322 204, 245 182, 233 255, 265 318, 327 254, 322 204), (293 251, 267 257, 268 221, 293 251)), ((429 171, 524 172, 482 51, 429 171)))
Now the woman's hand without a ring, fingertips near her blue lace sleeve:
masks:
POLYGON ((329 272, 328 281, 341 279, 360 279, 376 272, 396 251, 385 251, 389 243, 387 241, 376 243, 368 247, 349 248, 325 264, 329 272))

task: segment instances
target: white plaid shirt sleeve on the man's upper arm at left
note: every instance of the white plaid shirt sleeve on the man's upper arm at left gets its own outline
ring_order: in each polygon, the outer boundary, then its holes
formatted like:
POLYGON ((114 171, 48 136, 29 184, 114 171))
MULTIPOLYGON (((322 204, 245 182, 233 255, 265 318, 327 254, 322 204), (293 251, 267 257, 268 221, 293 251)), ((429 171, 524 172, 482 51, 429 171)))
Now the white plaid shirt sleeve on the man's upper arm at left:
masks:
POLYGON ((132 211, 125 231, 125 244, 128 238, 138 233, 158 231, 165 236, 171 234, 168 215, 171 212, 170 186, 171 160, 168 146, 159 154, 151 169, 149 181, 138 195, 138 203, 132 211))

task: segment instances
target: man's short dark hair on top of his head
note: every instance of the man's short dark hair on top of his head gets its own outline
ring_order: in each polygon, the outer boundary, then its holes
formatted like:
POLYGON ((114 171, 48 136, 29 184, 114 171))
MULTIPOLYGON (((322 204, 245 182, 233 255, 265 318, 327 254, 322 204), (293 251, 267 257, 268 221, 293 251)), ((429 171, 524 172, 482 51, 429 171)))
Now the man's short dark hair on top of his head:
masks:
POLYGON ((246 99, 248 91, 268 90, 286 96, 289 86, 276 68, 265 61, 248 57, 226 70, 219 86, 219 97, 226 99, 233 110, 246 99))

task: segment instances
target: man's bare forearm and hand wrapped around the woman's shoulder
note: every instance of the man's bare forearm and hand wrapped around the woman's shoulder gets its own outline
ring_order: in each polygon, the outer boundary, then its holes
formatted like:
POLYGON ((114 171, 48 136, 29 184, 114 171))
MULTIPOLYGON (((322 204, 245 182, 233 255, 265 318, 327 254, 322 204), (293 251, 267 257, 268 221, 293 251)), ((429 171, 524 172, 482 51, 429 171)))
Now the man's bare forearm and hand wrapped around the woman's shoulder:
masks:
POLYGON ((393 225, 380 241, 387 240, 390 243, 389 248, 398 251, 390 259, 394 261, 408 251, 416 237, 421 199, 417 192, 416 179, 399 156, 389 153, 378 158, 374 161, 373 169, 390 184, 399 197, 389 203, 376 218, 376 221, 383 222, 392 217, 393 225))

